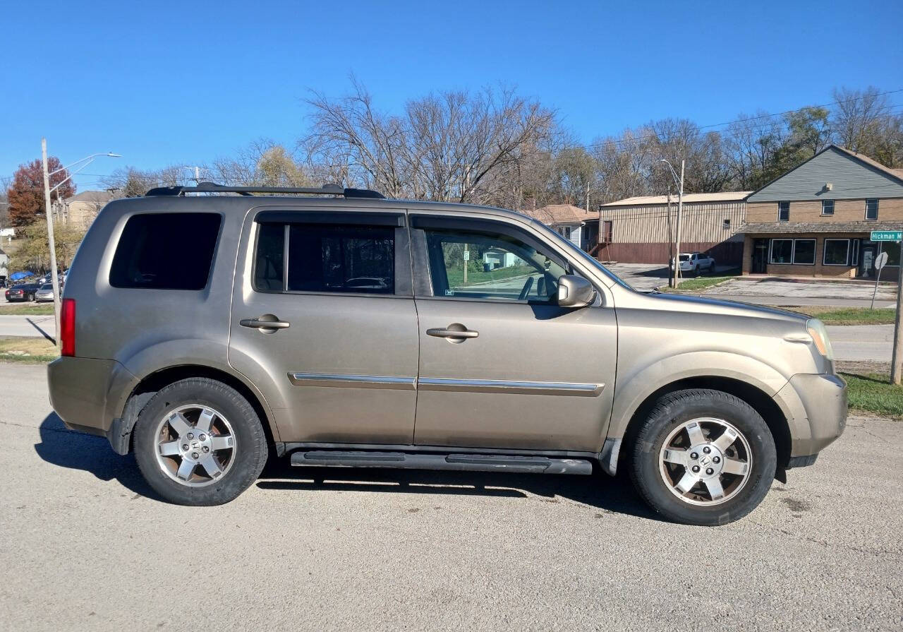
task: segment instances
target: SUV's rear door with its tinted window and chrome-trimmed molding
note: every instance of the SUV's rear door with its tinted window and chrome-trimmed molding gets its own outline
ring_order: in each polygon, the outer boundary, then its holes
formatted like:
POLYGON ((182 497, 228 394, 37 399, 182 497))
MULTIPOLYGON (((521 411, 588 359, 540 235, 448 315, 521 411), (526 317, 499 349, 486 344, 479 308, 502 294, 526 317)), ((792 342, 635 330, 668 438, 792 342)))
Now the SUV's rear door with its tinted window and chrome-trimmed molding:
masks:
POLYGON ((255 209, 242 243, 229 363, 277 409, 279 439, 410 444, 418 343, 404 212, 255 209))

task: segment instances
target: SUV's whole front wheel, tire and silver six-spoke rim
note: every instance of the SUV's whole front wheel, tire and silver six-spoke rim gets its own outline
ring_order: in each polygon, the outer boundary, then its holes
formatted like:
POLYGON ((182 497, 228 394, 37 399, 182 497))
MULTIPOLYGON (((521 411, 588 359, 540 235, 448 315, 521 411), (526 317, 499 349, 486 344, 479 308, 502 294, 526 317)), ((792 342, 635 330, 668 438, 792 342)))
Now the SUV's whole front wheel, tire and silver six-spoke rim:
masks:
POLYGON ((631 457, 639 494, 684 524, 727 524, 749 514, 768 494, 777 468, 775 441, 759 413, 707 389, 659 399, 631 457))

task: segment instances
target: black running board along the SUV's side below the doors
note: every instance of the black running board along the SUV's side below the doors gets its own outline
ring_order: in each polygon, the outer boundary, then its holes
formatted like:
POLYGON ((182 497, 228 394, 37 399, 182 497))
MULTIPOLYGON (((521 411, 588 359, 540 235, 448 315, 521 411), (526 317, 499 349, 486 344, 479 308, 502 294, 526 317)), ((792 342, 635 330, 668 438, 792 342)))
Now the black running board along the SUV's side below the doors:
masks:
POLYGON ((397 467, 470 472, 503 471, 525 474, 592 474, 591 462, 580 458, 516 457, 494 454, 408 454, 363 450, 293 452, 292 465, 298 467, 397 467))

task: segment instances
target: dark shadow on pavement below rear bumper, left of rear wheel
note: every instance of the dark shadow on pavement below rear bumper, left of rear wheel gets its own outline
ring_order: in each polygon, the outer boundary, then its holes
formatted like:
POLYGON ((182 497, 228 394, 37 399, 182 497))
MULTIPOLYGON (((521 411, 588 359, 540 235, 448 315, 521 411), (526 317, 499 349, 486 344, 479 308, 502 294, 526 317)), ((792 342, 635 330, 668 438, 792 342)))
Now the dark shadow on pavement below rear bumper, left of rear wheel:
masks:
POLYGON ((131 454, 125 457, 116 454, 110 449, 106 438, 66 428, 55 412, 44 418, 38 430, 41 443, 34 444, 34 451, 48 463, 81 469, 104 481, 116 479, 135 494, 162 500, 144 482, 144 477, 135 464, 135 457, 131 454))

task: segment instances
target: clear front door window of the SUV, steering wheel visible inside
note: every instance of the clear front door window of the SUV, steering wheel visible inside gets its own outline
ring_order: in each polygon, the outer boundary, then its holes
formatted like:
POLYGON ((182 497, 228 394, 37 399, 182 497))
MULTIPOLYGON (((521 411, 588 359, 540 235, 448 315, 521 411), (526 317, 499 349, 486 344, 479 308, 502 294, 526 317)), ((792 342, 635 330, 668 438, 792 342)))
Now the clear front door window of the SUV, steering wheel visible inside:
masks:
POLYGON ((510 235, 424 231, 433 296, 550 303, 568 271, 510 235))

